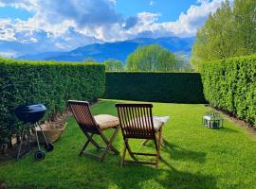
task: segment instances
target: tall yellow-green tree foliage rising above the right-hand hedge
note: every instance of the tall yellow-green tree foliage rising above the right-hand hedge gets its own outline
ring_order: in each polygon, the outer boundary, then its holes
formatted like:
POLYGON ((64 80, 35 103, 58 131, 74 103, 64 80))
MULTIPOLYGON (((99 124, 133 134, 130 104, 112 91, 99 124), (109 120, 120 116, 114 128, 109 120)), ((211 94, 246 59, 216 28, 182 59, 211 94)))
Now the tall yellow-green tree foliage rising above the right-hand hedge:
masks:
POLYGON ((192 47, 192 63, 200 70, 202 63, 256 53, 256 1, 229 1, 210 15, 200 28, 192 47))

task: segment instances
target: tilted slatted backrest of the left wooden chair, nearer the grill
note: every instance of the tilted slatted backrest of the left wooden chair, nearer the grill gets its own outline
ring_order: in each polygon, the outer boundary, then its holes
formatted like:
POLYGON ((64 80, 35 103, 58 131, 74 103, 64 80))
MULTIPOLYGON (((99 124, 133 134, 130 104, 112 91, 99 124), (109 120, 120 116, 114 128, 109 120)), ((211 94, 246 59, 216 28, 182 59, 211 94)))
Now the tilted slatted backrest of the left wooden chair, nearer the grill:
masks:
POLYGON ((99 132, 97 123, 90 111, 89 102, 68 100, 67 103, 83 132, 99 132))

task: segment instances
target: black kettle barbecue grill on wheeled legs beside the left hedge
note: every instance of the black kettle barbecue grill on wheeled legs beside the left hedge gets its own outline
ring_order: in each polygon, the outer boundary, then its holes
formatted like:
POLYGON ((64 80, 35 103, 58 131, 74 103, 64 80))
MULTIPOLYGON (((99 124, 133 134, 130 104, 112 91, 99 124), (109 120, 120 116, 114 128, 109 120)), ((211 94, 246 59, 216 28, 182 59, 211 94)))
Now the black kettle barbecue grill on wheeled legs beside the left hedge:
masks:
POLYGON ((27 141, 28 150, 30 150, 30 129, 33 129, 35 132, 36 142, 38 146, 38 151, 34 153, 35 159, 43 160, 46 157, 46 152, 41 150, 40 148, 36 127, 39 127, 43 133, 43 136, 46 141, 46 145, 45 145, 46 151, 53 150, 53 145, 47 143, 45 133, 43 132, 41 126, 38 124, 38 121, 44 117, 45 113, 46 113, 46 107, 43 104, 21 105, 15 109, 16 116, 19 118, 19 120, 25 123, 25 125, 22 128, 21 143, 19 146, 18 154, 17 154, 17 160, 23 154, 21 152, 21 148, 23 145, 23 140, 26 135, 26 131, 27 131, 27 139, 28 139, 27 141))

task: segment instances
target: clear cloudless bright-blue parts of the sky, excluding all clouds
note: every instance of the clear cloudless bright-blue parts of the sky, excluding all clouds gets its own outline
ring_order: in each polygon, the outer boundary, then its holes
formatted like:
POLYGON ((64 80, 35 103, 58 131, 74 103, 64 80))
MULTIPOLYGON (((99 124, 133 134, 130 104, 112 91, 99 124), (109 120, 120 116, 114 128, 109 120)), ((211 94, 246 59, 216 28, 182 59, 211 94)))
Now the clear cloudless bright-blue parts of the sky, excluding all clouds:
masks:
MULTIPOLYGON (((125 18, 136 15, 142 11, 160 13, 158 22, 175 21, 181 12, 186 12, 192 5, 196 5, 194 0, 118 0, 116 10, 125 18)), ((27 20, 33 13, 25 9, 13 7, 0 8, 0 18, 11 18, 27 20)))

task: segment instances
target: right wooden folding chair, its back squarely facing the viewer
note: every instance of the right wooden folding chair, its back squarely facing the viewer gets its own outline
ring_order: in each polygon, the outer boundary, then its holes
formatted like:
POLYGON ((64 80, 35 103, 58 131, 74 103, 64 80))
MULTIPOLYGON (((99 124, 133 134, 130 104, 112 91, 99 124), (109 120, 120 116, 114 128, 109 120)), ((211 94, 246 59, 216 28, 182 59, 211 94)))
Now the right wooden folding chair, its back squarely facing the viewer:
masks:
POLYGON ((160 158, 160 142, 163 123, 153 119, 152 104, 116 104, 119 112, 119 122, 124 140, 124 150, 121 158, 123 163, 153 164, 158 166, 160 158), (158 135, 158 137, 156 136, 158 135), (155 153, 137 153, 131 150, 129 139, 153 140, 155 153), (126 150, 133 161, 125 160, 126 150), (138 161, 136 156, 155 156, 155 161, 138 161))

